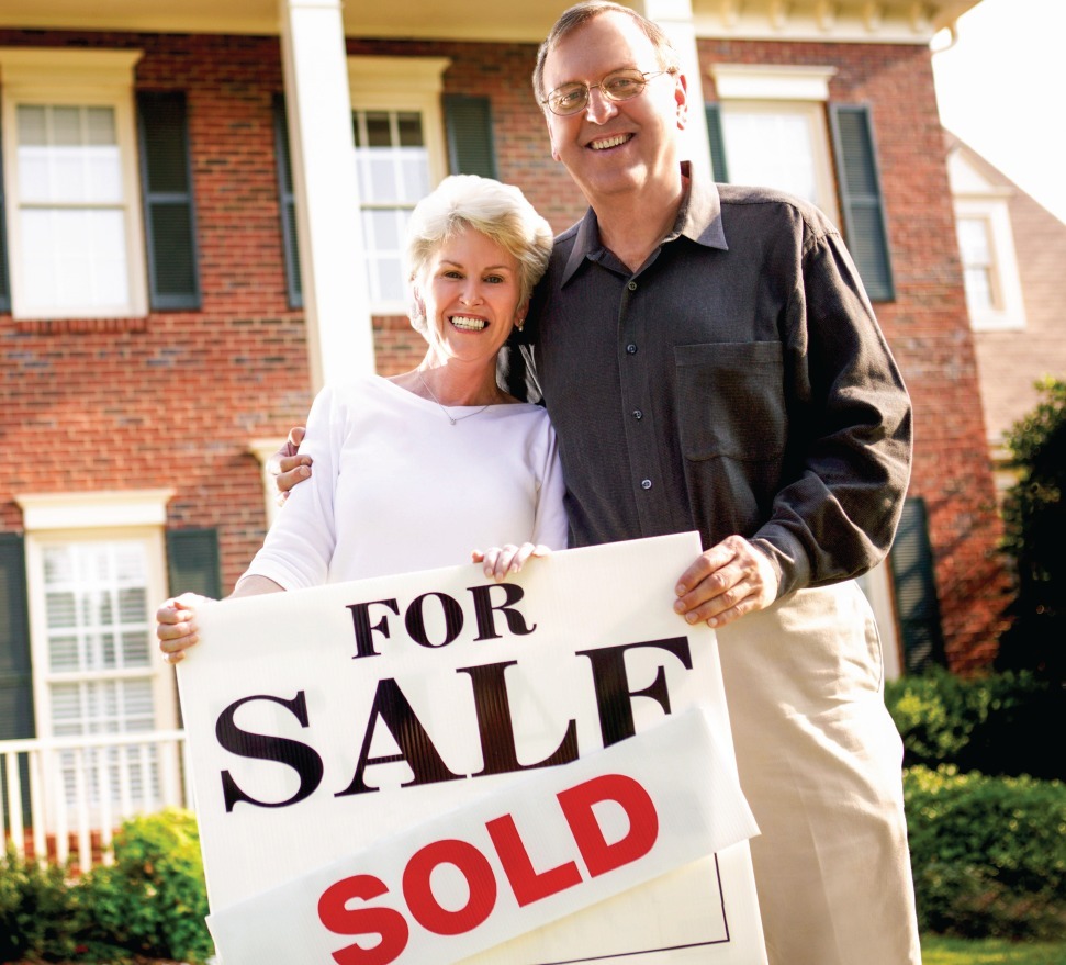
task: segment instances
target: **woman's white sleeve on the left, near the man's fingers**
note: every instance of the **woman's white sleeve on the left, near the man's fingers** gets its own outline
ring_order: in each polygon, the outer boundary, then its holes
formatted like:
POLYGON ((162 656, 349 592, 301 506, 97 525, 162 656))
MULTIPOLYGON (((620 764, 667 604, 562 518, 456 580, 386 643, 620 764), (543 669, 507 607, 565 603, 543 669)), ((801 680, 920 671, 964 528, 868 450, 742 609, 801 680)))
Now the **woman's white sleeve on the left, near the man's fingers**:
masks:
POLYGON ((266 576, 285 590, 326 582, 337 543, 334 494, 344 430, 345 407, 327 386, 315 397, 300 446, 312 458, 311 479, 292 489, 245 576, 266 576))

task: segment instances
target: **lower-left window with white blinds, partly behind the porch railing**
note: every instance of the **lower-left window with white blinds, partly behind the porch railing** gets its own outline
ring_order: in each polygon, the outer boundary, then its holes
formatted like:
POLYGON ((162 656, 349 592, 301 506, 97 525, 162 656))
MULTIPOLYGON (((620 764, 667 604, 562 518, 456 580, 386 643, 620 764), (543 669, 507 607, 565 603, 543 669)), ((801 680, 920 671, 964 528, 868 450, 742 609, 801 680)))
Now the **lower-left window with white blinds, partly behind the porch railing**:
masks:
MULTIPOLYGON (((155 607, 167 593, 169 495, 19 497, 38 737, 96 739, 176 726, 173 681, 155 659, 153 633, 155 607)), ((60 786, 47 793, 68 807, 131 800, 159 807, 176 767, 172 755, 150 744, 90 740, 60 752, 60 786)))

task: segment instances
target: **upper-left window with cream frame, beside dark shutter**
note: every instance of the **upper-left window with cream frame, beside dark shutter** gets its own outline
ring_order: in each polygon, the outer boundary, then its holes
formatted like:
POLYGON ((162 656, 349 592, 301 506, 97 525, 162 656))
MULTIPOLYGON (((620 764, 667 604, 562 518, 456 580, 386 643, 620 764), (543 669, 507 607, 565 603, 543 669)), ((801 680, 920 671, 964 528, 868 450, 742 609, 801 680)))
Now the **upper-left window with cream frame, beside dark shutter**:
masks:
POLYGON ((133 104, 139 56, 0 49, 15 317, 146 312, 133 104))

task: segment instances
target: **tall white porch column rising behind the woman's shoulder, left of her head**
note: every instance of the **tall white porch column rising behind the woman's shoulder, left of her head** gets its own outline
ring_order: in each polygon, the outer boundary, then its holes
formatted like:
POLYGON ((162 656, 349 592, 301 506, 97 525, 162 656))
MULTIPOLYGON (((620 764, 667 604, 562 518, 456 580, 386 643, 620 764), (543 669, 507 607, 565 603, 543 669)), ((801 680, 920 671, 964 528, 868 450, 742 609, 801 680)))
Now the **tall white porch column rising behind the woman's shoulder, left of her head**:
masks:
POLYGON ((340 0, 279 0, 311 379, 374 371, 340 0))

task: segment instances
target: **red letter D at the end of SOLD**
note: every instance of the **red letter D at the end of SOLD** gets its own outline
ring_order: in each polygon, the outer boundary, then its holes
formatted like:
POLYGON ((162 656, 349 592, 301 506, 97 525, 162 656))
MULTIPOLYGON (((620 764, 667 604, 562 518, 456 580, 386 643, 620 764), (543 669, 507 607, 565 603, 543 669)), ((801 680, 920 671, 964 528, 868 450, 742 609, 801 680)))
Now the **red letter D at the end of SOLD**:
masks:
POLYGON ((585 867, 594 878, 643 857, 659 838, 654 801, 642 785, 625 774, 603 774, 557 796, 585 867), (620 805, 629 819, 628 833, 614 844, 607 843, 592 809, 605 800, 620 805))

